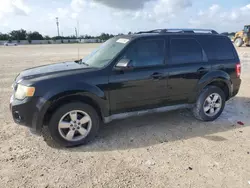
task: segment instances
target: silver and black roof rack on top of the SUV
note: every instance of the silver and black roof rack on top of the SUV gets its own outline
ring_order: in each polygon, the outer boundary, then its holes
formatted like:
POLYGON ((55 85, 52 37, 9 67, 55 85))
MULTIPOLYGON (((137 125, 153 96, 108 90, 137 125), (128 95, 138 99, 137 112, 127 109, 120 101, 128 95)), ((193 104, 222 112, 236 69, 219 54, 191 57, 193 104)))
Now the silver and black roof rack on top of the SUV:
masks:
POLYGON ((215 30, 212 29, 155 29, 151 31, 140 31, 136 34, 143 33, 210 33, 218 34, 215 30))

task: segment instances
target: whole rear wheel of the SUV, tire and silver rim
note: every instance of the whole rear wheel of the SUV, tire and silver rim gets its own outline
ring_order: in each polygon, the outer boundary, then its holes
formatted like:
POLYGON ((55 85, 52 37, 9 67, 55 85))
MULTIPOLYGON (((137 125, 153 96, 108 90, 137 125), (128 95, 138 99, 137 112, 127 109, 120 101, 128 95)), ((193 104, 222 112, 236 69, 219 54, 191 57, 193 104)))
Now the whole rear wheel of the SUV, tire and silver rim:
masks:
POLYGON ((193 114, 195 118, 198 120, 213 121, 221 115, 225 107, 225 101, 226 101, 225 93, 219 87, 207 86, 201 91, 196 101, 196 104, 193 107, 193 114), (214 104, 210 104, 207 100, 208 97, 210 97, 210 99, 213 101, 213 99, 215 99, 216 98, 215 96, 217 95, 218 99, 216 100, 216 102, 214 102, 214 104), (214 107, 219 105, 219 103, 220 103, 220 108, 214 107), (212 108, 214 109, 214 113, 212 113, 212 109, 210 108, 210 106, 212 106, 212 108))

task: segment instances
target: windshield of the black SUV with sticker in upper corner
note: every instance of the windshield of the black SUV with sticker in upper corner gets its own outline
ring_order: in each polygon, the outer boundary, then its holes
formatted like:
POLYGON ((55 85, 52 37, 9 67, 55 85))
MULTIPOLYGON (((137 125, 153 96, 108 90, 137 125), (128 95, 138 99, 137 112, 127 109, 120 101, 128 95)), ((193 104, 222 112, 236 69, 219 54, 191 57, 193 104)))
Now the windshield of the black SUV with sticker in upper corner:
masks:
POLYGON ((82 62, 90 67, 104 67, 126 46, 128 41, 129 39, 125 38, 109 39, 85 57, 82 62))

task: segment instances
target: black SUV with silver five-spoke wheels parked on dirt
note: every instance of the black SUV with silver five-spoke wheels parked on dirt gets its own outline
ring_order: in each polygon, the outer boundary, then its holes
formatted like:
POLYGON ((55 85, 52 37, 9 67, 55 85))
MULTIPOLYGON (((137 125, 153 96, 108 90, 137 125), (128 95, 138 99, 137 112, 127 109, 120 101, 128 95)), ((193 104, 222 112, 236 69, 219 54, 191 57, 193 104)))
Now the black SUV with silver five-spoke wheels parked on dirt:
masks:
POLYGON ((84 59, 21 72, 10 108, 16 123, 48 126, 63 146, 91 140, 101 122, 191 108, 213 121, 240 88, 241 65, 214 30, 161 29, 114 37, 84 59))

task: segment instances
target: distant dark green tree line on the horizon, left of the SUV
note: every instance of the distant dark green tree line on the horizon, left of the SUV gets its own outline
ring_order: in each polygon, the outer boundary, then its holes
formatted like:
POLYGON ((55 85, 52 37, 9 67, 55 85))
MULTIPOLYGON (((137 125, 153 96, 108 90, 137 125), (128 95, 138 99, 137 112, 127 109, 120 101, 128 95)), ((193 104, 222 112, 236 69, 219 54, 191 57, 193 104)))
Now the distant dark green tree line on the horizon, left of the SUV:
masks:
MULTIPOLYGON (((129 32, 129 34, 131 34, 131 32, 129 32)), ((122 33, 118 34, 118 35, 123 35, 122 33)), ((20 30, 13 30, 9 33, 1 33, 0 32, 0 40, 8 40, 8 41, 12 41, 12 40, 28 40, 28 41, 32 41, 32 40, 58 40, 58 39, 99 39, 102 41, 106 41, 112 37, 114 37, 115 35, 113 34, 108 34, 108 33, 102 33, 99 36, 91 36, 91 35, 81 35, 79 37, 76 37, 75 35, 71 35, 71 36, 54 36, 54 37, 50 37, 48 35, 43 36, 42 34, 40 34, 37 31, 33 31, 33 32, 27 32, 24 29, 20 29, 20 30)))

